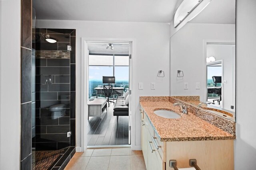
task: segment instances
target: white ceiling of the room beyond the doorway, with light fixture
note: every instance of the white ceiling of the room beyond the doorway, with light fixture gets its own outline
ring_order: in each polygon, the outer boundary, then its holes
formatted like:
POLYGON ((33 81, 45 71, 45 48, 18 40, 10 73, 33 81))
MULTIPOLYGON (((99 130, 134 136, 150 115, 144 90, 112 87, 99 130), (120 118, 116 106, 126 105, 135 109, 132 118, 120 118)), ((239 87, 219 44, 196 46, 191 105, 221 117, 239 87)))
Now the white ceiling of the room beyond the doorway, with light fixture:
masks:
POLYGON ((89 53, 129 54, 129 44, 113 43, 114 49, 106 49, 108 43, 88 43, 89 53))

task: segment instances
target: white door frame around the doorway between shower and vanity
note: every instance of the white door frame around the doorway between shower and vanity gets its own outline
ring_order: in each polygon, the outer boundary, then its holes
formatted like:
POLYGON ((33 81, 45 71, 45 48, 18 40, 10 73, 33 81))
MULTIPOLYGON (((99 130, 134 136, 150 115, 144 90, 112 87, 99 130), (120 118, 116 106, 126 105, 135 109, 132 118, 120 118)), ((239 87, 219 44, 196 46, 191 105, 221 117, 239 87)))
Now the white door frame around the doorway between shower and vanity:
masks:
POLYGON ((98 38, 98 37, 82 37, 82 58, 81 58, 81 152, 84 152, 87 149, 87 114, 88 114, 88 41, 118 41, 118 42, 131 42, 132 44, 132 59, 131 59, 131 84, 132 86, 129 87, 129 90, 132 90, 132 95, 130 98, 130 117, 131 117, 131 147, 132 149, 135 148, 135 95, 134 95, 134 88, 135 87, 135 72, 134 60, 135 57, 135 47, 136 47, 136 40, 130 38, 98 38))

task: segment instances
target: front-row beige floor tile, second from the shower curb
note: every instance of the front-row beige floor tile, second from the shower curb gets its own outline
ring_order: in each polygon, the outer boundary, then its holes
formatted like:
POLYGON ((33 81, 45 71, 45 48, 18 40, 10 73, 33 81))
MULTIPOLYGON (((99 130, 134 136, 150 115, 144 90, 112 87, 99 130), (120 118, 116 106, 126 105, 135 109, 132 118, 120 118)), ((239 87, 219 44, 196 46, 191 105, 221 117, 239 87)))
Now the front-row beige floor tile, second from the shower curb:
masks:
POLYGON ((110 156, 92 156, 86 170, 108 170, 110 156))

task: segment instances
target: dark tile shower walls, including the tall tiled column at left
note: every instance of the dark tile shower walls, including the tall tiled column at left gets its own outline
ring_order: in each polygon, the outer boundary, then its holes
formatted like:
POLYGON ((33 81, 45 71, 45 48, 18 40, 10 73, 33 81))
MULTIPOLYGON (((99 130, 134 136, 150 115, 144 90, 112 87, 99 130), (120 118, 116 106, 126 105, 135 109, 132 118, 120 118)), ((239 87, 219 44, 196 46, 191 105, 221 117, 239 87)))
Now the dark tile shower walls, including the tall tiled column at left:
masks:
MULTIPOLYGON (((34 13, 33 13, 34 14, 34 13)), ((34 17, 33 17, 34 18, 34 17)), ((60 156, 60 159, 52 169, 64 169, 66 164, 72 158, 75 153, 75 45, 76 45, 76 30, 74 29, 37 29, 33 28, 32 33, 32 1, 31 0, 21 0, 21 152, 20 152, 20 169, 21 170, 31 170, 32 168, 32 138, 33 140, 38 139, 38 141, 45 143, 46 141, 52 140, 53 143, 49 142, 48 147, 41 145, 42 143, 33 143, 33 147, 38 145, 42 149, 50 150, 64 148, 66 146, 72 146, 67 149, 65 154, 60 156), (56 35, 58 43, 50 45, 50 43, 40 42, 38 45, 35 43, 37 31, 40 33, 52 34, 53 37, 56 33, 61 33, 62 35, 56 35), (64 35, 65 34, 65 35, 64 35), (67 38, 68 35, 68 38, 67 38), (69 39, 69 42, 66 40, 69 39), (33 43, 32 43, 33 42, 33 43), (72 51, 70 57, 67 57, 67 51, 65 49, 66 45, 72 45, 72 51), (56 56, 45 57, 45 60, 34 59, 35 49, 44 48, 46 50, 58 50, 56 56), (56 49, 57 47, 57 49, 56 49), (47 58, 47 59, 46 59, 47 58), (51 59, 55 58, 55 59, 51 59), (57 61, 56 59, 61 58, 65 61, 57 61), (48 63, 47 63, 48 61, 48 63), (68 61, 68 62, 67 62, 68 61), (42 68, 39 72, 36 72, 35 65, 41 67, 41 64, 44 67, 49 67, 48 69, 42 68), (46 64, 46 65, 45 65, 46 64), (70 66, 72 64, 72 66, 70 66), (61 68, 60 68, 61 67, 61 68), (65 68, 64 68, 65 67, 65 68), (72 67, 72 69, 70 69, 72 67), (60 68, 60 69, 58 69, 60 68), (69 72, 67 71, 69 70, 69 72), (36 86, 35 82, 45 81, 42 76, 33 76, 34 74, 42 72, 44 73, 54 73, 52 76, 52 86, 46 88, 46 86, 36 86), (62 72, 65 72, 65 75, 62 75, 62 72), (70 77, 71 75, 71 77, 70 77), (74 77, 72 77, 74 76, 74 77), (35 80, 36 79, 36 80, 35 80), (71 81, 70 81, 71 79, 71 81), (70 84, 72 84, 72 91, 70 91, 70 84), (38 91, 40 89, 41 91, 38 91), (47 93, 47 94, 46 94, 47 93), (60 96, 70 96, 70 99, 60 100, 60 96), (42 103, 36 104, 35 100, 38 97, 42 100, 42 103), (66 103, 66 116, 58 118, 58 122, 55 119, 46 121, 49 113, 47 109, 41 109, 38 112, 38 109, 35 108, 47 108, 51 104, 57 102, 66 103), (69 109, 70 108, 70 109, 69 109), (36 119, 35 117, 39 118, 36 119), (34 118, 34 119, 33 119, 34 118), (36 121, 36 122, 35 122, 36 121), (50 122, 48 125, 47 122, 50 122), (42 123, 42 125, 38 124, 42 123), (44 124, 46 123, 46 124, 44 124), (58 123, 58 124, 57 124, 58 123), (37 128, 34 128, 34 125, 38 125, 37 128), (72 132, 71 137, 67 140, 66 133, 62 133, 66 130, 72 132), (44 134, 42 133, 44 132, 44 134), (40 134, 40 137, 38 135, 40 134), (60 134, 56 136, 55 134, 60 134), (56 141, 58 146, 56 148, 56 141), (64 142, 62 142, 64 141, 64 142), (68 145, 67 145, 68 144, 68 145), (44 148, 45 147, 45 148, 44 148)), ((47 51, 46 51, 47 52, 47 51)), ((45 53, 46 54, 46 53, 45 53)), ((54 54, 53 54, 54 55, 54 54)))

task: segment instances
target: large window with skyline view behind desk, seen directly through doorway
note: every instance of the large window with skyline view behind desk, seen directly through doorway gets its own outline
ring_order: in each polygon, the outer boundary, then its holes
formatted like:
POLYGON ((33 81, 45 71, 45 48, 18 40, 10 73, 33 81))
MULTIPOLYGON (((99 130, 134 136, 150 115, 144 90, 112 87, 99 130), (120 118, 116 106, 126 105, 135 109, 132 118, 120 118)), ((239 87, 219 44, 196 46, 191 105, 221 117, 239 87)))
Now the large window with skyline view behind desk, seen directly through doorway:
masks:
MULTIPOLYGON (((96 98, 96 87, 103 87, 102 76, 115 76, 113 87, 129 88, 129 56, 128 55, 89 55, 89 100, 96 98)), ((113 96, 116 98, 117 96, 113 96)), ((105 98, 98 94, 98 98, 105 98)))

